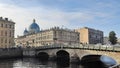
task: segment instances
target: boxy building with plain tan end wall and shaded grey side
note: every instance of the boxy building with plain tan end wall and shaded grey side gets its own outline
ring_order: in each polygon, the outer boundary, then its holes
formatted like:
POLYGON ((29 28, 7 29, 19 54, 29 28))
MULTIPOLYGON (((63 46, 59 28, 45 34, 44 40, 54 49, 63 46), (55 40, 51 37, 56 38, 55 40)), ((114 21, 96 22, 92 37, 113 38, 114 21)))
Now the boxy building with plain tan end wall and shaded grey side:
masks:
POLYGON ((103 44, 103 32, 100 30, 84 27, 75 31, 80 33, 80 43, 82 44, 103 44))

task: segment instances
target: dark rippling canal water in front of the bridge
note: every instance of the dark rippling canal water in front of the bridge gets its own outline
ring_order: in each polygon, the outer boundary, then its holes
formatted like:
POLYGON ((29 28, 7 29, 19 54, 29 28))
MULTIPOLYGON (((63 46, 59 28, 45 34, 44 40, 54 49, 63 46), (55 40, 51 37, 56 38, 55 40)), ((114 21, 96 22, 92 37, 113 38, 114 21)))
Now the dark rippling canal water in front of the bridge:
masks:
POLYGON ((0 68, 83 68, 79 64, 58 64, 37 58, 1 59, 0 68))

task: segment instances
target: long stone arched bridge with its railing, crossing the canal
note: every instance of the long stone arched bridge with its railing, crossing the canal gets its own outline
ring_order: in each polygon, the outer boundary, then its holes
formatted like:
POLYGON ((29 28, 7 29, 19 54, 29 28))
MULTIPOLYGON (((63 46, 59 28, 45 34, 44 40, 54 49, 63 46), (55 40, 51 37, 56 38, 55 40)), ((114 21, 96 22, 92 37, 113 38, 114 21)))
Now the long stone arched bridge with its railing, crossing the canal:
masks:
POLYGON ((23 50, 24 56, 36 57, 39 55, 48 55, 49 58, 57 56, 59 54, 78 56, 80 59, 86 55, 106 55, 112 57, 120 63, 120 48, 119 47, 107 47, 107 46, 94 46, 94 45, 79 45, 79 46, 67 46, 67 45, 47 45, 36 48, 26 48, 23 50))

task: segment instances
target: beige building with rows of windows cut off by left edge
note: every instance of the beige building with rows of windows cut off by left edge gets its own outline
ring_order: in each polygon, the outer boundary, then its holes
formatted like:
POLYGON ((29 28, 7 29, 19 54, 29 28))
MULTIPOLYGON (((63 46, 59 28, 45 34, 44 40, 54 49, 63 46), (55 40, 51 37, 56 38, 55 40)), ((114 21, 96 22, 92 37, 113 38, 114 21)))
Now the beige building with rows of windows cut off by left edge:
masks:
POLYGON ((14 46, 14 25, 8 18, 0 17, 0 48, 14 46))

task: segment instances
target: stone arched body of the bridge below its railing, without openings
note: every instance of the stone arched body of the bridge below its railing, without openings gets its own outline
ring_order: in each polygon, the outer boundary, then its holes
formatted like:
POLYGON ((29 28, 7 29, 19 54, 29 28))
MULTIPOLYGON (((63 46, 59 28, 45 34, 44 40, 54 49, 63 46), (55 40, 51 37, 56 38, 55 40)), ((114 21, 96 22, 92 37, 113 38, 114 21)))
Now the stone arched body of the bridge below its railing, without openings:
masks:
MULTIPOLYGON (((77 54, 80 59, 82 59, 85 55, 106 55, 114 58, 118 63, 120 63, 119 55, 120 52, 115 51, 102 51, 102 50, 87 50, 87 49, 71 49, 71 48, 52 48, 52 49, 36 49, 34 52, 32 51, 24 51, 24 55, 26 56, 36 56, 39 52, 46 52, 49 57, 54 56, 56 60, 57 52, 64 50, 69 53, 69 56, 72 57, 74 54, 77 54)), ((70 59, 71 60, 71 59, 70 59)))

